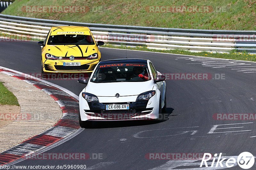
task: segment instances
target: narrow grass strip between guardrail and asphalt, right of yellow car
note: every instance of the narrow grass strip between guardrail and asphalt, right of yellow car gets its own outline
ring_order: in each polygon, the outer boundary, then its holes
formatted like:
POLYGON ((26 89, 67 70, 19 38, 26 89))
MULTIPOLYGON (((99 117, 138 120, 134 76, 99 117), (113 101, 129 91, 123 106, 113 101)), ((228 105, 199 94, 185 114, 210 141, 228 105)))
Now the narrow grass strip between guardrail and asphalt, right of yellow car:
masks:
MULTIPOLYGON (((125 49, 125 46, 114 46, 111 44, 106 44, 101 47, 125 49)), ((230 51, 229 53, 213 53, 213 52, 196 53, 196 52, 189 52, 186 50, 178 50, 178 49, 173 49, 173 50, 148 49, 142 46, 138 46, 135 48, 127 47, 127 49, 140 50, 140 51, 152 51, 152 52, 160 52, 160 53, 182 54, 182 55, 196 55, 196 56, 204 56, 204 57, 225 58, 225 59, 232 59, 232 60, 244 60, 244 61, 256 62, 256 54, 248 54, 247 52, 237 52, 235 50, 230 51)))

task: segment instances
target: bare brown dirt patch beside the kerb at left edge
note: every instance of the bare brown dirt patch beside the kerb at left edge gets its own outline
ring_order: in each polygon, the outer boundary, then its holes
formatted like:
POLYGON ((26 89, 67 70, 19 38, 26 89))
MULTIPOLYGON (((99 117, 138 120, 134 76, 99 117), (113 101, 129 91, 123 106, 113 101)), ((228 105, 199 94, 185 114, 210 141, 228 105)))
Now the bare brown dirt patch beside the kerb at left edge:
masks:
POLYGON ((20 115, 20 106, 0 105, 0 128, 13 122, 20 115))

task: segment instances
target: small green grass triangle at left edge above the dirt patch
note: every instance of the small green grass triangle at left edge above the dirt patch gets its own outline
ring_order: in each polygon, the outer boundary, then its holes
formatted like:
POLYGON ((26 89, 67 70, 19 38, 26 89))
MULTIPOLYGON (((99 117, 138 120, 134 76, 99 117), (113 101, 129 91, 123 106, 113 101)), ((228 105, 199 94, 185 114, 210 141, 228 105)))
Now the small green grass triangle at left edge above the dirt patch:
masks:
POLYGON ((0 104, 20 106, 17 98, 0 82, 0 104))

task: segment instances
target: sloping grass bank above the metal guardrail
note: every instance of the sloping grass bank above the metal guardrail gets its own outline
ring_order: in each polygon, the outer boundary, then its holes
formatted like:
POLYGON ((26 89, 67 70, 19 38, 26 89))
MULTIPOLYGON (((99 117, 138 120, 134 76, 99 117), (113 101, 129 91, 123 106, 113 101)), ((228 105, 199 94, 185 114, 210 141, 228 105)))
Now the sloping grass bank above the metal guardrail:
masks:
POLYGON ((255 0, 16 0, 2 13, 32 18, 167 28, 255 30, 255 0), (42 12, 39 7, 46 7, 42 12), (86 6, 84 12, 47 7, 86 6), (160 10, 162 8, 164 10, 160 10), (173 10, 168 10, 172 7, 173 10), (196 7, 187 11, 181 7, 196 7), (199 9, 208 9, 200 11, 199 9), (153 10, 152 10, 153 9, 153 10), (177 10, 176 10, 177 9, 177 10), (166 10, 166 11, 165 11, 166 10))

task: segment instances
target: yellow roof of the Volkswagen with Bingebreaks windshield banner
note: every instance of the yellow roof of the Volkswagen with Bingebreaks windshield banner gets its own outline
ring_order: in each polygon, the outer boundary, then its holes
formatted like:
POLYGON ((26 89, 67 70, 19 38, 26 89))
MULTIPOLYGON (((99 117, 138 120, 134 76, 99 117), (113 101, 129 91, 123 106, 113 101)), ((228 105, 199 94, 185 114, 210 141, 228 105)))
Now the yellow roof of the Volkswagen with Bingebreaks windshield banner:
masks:
POLYGON ((51 35, 60 35, 60 34, 91 35, 90 29, 86 26, 53 26, 51 28, 51 35))

